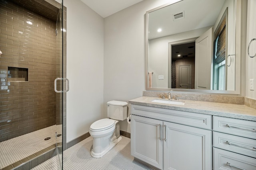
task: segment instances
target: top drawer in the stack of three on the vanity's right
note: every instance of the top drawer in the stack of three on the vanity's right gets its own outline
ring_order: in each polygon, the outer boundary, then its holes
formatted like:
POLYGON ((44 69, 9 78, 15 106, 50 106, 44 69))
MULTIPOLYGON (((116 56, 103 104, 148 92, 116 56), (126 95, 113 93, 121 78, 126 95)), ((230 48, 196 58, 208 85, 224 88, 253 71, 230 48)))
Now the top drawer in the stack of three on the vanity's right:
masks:
POLYGON ((256 122, 213 116, 214 131, 256 139, 256 122))

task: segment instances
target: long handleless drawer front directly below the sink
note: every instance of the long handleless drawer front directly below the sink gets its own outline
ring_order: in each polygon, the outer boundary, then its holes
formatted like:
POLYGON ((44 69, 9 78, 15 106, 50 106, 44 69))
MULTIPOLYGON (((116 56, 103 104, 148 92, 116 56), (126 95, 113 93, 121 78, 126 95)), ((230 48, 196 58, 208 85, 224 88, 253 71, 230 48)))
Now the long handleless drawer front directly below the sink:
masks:
POLYGON ((133 115, 149 117, 162 121, 180 123, 204 129, 212 129, 212 115, 178 111, 172 109, 162 109, 157 107, 148 107, 132 104, 131 113, 133 115))

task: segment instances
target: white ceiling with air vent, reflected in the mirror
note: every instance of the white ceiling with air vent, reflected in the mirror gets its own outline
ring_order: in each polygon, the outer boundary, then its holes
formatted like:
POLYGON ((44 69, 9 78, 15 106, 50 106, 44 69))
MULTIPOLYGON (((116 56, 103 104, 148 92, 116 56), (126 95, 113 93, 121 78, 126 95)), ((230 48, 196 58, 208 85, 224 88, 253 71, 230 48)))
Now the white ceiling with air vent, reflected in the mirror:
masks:
POLYGON ((224 2, 225 0, 183 0, 150 12, 148 39, 212 26, 216 23, 224 2), (180 12, 184 12, 184 18, 174 21, 172 15, 180 12), (157 32, 158 28, 162 31, 157 32))

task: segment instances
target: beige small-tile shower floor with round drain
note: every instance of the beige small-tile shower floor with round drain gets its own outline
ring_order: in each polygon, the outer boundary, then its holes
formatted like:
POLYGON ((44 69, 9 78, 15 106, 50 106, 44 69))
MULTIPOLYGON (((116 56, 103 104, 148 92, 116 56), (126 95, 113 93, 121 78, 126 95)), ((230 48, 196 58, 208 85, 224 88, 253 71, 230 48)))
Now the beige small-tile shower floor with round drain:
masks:
POLYGON ((56 129, 61 125, 52 125, 0 143, 0 169, 22 160, 56 142, 56 129), (44 140, 50 137, 49 140, 44 140))

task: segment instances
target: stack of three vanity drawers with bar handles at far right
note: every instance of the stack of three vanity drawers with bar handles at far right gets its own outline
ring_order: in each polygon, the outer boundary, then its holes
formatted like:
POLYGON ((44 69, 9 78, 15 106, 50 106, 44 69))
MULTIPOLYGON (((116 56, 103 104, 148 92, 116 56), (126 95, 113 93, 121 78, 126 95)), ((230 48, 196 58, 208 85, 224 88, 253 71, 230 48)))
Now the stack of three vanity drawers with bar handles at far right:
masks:
POLYGON ((213 116, 214 170, 256 170, 256 122, 213 116))

